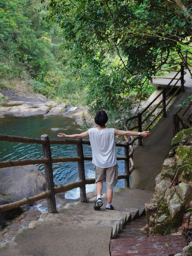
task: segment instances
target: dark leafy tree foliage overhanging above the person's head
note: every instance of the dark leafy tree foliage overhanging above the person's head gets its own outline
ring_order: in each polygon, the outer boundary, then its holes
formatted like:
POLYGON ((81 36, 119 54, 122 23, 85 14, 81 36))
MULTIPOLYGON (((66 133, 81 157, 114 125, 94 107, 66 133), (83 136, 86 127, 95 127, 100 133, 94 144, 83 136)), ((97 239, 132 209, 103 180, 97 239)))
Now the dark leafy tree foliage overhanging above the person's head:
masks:
POLYGON ((128 95, 146 89, 156 57, 190 43, 190 1, 176 2, 51 0, 40 8, 61 28, 62 48, 71 51, 69 64, 92 110, 128 114, 128 95))

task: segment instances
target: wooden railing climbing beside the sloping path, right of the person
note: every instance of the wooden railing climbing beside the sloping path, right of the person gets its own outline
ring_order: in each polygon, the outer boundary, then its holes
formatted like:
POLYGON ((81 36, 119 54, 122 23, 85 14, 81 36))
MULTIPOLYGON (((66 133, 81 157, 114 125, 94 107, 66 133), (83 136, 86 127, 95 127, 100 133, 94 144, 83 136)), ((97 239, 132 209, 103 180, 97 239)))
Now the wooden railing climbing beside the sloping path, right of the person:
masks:
MULTIPOLYGON (((154 111, 160 106, 160 104, 162 103, 162 109, 158 112, 157 115, 155 115, 155 117, 152 119, 152 121, 149 123, 149 125, 147 125, 145 127, 145 130, 147 131, 155 122, 155 120, 161 115, 161 113, 163 113, 163 116, 166 116, 166 107, 167 105, 170 103, 170 101, 173 99, 173 97, 179 92, 179 91, 184 91, 184 65, 181 63, 180 64, 180 70, 176 73, 176 75, 172 78, 172 80, 170 81, 170 83, 168 83, 168 85, 166 87, 164 87, 162 89, 162 91, 157 95, 157 97, 155 97, 155 99, 142 111, 139 111, 137 113, 137 115, 132 116, 128 119, 125 120, 125 128, 127 131, 129 130, 134 130, 134 129, 138 129, 138 131, 142 131, 142 125, 144 124, 144 122, 146 122, 146 120, 148 120, 151 116, 152 113, 154 113, 154 111), (174 83, 173 86, 171 86, 170 88, 170 84, 175 80, 175 78, 177 77, 177 75, 180 74, 180 77, 176 80, 176 82, 174 83), (168 100, 166 100, 166 97, 168 95, 170 95, 170 93, 173 91, 174 88, 176 88, 176 85, 178 84, 178 82, 181 81, 181 85, 178 86, 178 88, 176 89, 176 91, 173 93, 173 95, 171 97, 169 97, 168 100), (151 105, 162 95, 162 100, 159 101, 159 103, 152 109, 149 111, 148 114, 146 114, 146 111, 149 110, 149 107, 151 107, 151 105), (146 116, 144 116, 146 115, 146 116), (137 125, 134 125, 132 127, 128 127, 128 122, 131 120, 136 119, 137 121, 137 125)), ((139 141, 139 145, 142 146, 142 137, 137 137, 135 139, 138 139, 139 141)))

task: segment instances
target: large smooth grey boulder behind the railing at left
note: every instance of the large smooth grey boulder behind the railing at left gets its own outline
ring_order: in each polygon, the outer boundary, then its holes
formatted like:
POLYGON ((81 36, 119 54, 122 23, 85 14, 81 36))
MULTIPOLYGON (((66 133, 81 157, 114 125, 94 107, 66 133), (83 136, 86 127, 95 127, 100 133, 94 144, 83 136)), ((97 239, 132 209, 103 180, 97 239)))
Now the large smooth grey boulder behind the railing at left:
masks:
POLYGON ((46 191, 45 177, 35 165, 1 168, 0 194, 31 197, 46 191))

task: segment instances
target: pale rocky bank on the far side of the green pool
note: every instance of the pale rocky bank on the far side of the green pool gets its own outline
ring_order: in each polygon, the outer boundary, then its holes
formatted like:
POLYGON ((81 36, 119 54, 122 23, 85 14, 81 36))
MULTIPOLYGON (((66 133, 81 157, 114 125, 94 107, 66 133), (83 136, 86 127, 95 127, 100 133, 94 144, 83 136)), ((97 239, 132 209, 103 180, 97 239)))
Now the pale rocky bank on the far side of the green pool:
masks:
POLYGON ((91 119, 86 107, 73 107, 66 103, 49 101, 45 96, 35 93, 27 95, 6 90, 0 94, 0 98, 4 100, 0 102, 0 118, 5 115, 16 117, 62 115, 74 119, 78 125, 91 119))

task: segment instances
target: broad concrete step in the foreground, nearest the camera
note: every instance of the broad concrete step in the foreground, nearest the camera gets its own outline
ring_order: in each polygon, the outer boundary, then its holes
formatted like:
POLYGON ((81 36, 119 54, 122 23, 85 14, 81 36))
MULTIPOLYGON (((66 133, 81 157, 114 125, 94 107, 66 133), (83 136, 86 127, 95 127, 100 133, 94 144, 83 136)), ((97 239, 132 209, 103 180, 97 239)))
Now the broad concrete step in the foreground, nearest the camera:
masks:
POLYGON ((110 256, 111 232, 111 227, 95 226, 26 228, 1 248, 1 256, 110 256))

